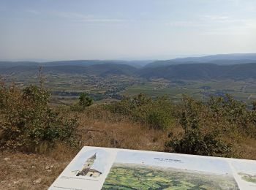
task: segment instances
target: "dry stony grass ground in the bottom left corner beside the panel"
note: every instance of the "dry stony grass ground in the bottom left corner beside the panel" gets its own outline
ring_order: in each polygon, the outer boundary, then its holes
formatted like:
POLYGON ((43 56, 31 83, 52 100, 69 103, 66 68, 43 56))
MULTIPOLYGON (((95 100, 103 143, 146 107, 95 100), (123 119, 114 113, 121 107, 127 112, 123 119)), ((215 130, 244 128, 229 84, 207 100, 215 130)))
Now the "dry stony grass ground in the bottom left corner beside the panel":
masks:
POLYGON ((4 151, 0 160, 1 189, 48 189, 71 158, 4 151))

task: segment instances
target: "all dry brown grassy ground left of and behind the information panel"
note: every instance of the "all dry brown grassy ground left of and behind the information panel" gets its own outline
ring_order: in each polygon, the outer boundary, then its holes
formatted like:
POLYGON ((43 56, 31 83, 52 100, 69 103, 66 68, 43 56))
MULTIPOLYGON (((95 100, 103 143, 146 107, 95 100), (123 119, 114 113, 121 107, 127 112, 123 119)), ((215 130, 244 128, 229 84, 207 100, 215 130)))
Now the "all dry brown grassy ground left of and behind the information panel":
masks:
MULTIPOLYGON (((74 114, 74 113, 72 113, 74 114)), ((128 118, 103 110, 79 113, 79 147, 84 145, 164 151, 166 131, 148 129, 128 118)), ((181 132, 177 126, 173 134, 181 132)), ((236 145, 241 157, 256 159, 256 140, 244 139, 236 145)), ((69 161, 79 151, 67 145, 56 145, 43 155, 4 151, 0 153, 0 189, 48 189, 69 161), (8 159, 7 159, 8 158, 8 159)))

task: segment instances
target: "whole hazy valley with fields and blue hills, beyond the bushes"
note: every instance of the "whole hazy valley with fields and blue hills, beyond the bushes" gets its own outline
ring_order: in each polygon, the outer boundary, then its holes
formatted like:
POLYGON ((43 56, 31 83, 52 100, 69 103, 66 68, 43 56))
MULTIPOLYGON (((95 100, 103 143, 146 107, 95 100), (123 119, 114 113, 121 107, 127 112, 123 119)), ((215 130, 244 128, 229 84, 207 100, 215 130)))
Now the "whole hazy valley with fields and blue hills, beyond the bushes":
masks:
POLYGON ((0 75, 19 86, 38 83, 39 66, 58 104, 71 104, 86 91, 98 100, 145 93, 183 94, 199 100, 231 94, 243 102, 256 99, 256 54, 225 54, 165 61, 1 61, 0 75))

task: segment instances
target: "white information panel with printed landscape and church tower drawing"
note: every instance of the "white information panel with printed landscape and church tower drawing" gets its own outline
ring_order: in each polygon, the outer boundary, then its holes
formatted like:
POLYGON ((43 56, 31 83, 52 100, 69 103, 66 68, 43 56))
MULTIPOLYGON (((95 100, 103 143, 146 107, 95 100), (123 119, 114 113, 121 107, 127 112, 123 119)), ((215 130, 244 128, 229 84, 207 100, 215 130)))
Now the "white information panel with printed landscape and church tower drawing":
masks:
POLYGON ((84 147, 49 189, 256 189, 256 161, 84 147))

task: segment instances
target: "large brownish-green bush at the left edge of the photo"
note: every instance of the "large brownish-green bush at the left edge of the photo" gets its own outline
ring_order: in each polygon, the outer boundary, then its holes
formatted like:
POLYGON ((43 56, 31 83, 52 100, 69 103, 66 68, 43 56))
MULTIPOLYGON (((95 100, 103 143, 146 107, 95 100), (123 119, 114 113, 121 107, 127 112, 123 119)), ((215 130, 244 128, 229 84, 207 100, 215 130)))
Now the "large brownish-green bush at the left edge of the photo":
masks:
POLYGON ((1 86, 1 145, 6 148, 38 151, 42 145, 70 140, 78 122, 61 116, 48 104, 44 88, 29 86, 23 91, 1 86))

